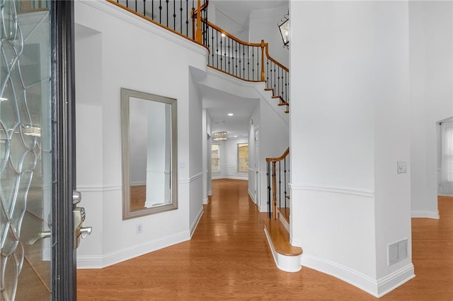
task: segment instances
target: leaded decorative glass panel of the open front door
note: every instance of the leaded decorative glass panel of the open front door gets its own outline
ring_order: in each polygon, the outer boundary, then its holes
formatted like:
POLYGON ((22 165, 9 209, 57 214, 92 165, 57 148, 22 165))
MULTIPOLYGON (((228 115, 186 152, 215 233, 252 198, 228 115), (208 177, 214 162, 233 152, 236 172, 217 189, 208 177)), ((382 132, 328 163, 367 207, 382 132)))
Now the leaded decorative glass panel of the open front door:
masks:
POLYGON ((0 1, 0 300, 50 300, 47 1, 0 1))

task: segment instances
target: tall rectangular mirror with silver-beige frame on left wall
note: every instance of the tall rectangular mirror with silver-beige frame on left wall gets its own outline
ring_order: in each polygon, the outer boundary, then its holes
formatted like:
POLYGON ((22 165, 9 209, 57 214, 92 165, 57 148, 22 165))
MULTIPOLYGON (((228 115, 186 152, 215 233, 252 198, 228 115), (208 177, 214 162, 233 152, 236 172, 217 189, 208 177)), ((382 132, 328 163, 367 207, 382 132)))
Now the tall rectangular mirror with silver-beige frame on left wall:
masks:
POLYGON ((176 99, 121 88, 122 219, 178 208, 176 99))

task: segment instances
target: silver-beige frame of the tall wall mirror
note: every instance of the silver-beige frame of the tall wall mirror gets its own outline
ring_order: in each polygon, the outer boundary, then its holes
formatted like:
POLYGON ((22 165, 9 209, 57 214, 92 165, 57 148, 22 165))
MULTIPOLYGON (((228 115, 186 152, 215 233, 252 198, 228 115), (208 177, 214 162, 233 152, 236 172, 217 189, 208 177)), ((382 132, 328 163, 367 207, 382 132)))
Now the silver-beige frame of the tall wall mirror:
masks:
POLYGON ((138 218, 178 208, 178 137, 176 99, 121 88, 122 129, 122 219, 138 218), (152 208, 130 210, 130 98, 171 105, 171 203, 152 208))

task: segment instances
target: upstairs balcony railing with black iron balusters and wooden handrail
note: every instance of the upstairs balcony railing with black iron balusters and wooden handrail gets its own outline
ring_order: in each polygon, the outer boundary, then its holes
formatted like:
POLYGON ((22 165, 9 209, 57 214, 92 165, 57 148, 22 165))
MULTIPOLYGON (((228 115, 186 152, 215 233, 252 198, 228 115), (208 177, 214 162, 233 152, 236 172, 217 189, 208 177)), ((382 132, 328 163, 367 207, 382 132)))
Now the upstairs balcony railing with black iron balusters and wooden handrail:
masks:
POLYGON ((107 0, 210 50, 208 66, 243 81, 265 82, 289 112, 289 70, 269 55, 269 45, 244 42, 211 23, 209 0, 107 0))

